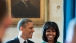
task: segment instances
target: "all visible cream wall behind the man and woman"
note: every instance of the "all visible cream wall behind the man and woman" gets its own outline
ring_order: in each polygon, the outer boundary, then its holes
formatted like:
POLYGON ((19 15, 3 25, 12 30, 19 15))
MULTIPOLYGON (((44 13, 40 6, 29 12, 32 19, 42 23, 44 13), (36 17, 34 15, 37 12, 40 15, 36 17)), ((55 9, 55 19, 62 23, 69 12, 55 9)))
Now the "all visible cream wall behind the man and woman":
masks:
MULTIPOLYGON (((55 21, 58 24, 60 30, 60 37, 58 41, 63 42, 63 0, 50 0, 49 3, 49 21, 55 21)), ((9 28, 10 29, 8 29, 8 31, 6 32, 6 36, 4 37, 3 42, 13 39, 18 35, 16 26, 9 28)), ((31 40, 33 40, 35 43, 41 43, 42 26, 35 26, 34 29, 35 32, 31 40)))

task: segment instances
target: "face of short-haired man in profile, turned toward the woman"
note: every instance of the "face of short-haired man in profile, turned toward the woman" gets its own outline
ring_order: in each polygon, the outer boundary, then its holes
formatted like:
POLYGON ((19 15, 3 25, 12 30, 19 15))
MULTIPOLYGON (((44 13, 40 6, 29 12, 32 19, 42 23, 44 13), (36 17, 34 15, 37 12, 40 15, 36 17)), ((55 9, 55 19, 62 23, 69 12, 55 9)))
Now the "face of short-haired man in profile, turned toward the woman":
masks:
POLYGON ((34 32, 34 26, 32 22, 28 22, 25 28, 22 29, 23 35, 26 38, 32 38, 32 34, 34 32))

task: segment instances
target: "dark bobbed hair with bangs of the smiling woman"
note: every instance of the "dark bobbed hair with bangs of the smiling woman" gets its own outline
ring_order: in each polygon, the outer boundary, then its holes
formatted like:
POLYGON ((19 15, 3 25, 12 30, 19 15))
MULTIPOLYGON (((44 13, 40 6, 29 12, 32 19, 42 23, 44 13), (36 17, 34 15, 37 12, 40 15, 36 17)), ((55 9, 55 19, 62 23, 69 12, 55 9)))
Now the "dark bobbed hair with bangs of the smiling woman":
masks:
POLYGON ((42 39, 43 39, 43 41, 45 41, 45 42, 48 42, 48 40, 47 40, 47 38, 46 38, 46 30, 47 29, 49 29, 50 27, 52 27, 52 28, 54 28, 55 29, 55 31, 56 31, 56 36, 55 36, 55 39, 54 39, 54 43, 56 43, 57 42, 57 39, 58 39, 58 37, 59 37, 59 35, 60 35, 60 33, 59 33, 59 28, 58 28, 58 25, 55 23, 55 22, 50 22, 50 21, 48 21, 48 22, 46 22, 44 25, 43 25, 43 35, 42 35, 42 39))

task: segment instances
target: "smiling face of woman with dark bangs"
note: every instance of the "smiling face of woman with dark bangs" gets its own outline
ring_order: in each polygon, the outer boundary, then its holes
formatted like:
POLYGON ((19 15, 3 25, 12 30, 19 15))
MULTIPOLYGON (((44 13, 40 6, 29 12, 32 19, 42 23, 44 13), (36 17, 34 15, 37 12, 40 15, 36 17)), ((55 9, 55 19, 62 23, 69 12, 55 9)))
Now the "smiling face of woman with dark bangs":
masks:
POLYGON ((56 36, 56 31, 54 28, 50 27, 49 29, 46 30, 46 37, 48 41, 54 41, 54 38, 56 36))

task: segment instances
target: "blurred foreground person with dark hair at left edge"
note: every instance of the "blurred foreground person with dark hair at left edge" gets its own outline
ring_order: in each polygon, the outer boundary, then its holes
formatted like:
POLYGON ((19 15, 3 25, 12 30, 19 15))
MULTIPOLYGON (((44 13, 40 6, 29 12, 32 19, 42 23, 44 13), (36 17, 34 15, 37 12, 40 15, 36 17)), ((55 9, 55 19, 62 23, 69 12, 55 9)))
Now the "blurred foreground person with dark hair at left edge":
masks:
POLYGON ((0 43, 11 23, 11 17, 8 15, 6 0, 0 0, 0 43))

